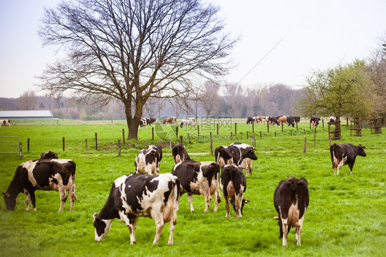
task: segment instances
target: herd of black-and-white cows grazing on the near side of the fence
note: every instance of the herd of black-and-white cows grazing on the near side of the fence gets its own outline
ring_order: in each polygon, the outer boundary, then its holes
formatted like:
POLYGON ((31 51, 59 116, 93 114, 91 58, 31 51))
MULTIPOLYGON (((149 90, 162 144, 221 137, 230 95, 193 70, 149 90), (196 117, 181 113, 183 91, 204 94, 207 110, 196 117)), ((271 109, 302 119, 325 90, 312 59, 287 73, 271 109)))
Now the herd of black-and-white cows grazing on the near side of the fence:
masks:
MULTIPOLYGON (((295 120, 295 118, 293 118, 295 120)), ((288 119, 287 117, 287 122, 288 119)), ((256 120, 254 121, 256 122, 256 120)), ((365 146, 352 144, 333 144, 330 146, 332 168, 337 174, 339 169, 348 164, 350 173, 357 155, 366 156, 365 146)), ((156 144, 140 150, 135 158, 135 173, 115 179, 111 192, 99 214, 94 214, 95 241, 102 241, 109 233, 113 219, 126 223, 130 232, 130 243, 135 243, 135 228, 139 216, 148 216, 156 223, 156 235, 159 237, 165 223, 170 223, 168 245, 173 244, 174 228, 177 224, 179 201, 183 194, 188 194, 190 211, 194 211, 193 194, 202 194, 205 198, 205 210, 214 198, 214 212, 220 203, 220 190, 225 199, 226 217, 230 216, 230 205, 233 205, 235 218, 242 217, 242 209, 249 200, 244 199, 247 189, 246 175, 251 175, 252 161, 258 159, 253 146, 235 142, 229 146, 218 146, 215 149, 214 161, 194 161, 190 158, 183 144, 172 147, 175 162, 172 172, 159 174, 162 160, 162 148, 156 144), (220 172, 221 171, 221 172, 220 172)), ((7 210, 14 210, 19 193, 27 196, 27 208, 32 203, 36 211, 36 190, 56 190, 60 194, 62 212, 67 200, 70 199, 70 211, 76 198, 75 190, 76 164, 71 159, 58 159, 51 151, 43 153, 41 159, 25 161, 16 168, 15 175, 4 192, 3 198, 7 210)), ((304 213, 308 207, 308 182, 305 178, 289 177, 278 183, 273 194, 277 224, 280 227, 282 245, 286 246, 286 237, 295 227, 297 245, 304 222, 304 213)))

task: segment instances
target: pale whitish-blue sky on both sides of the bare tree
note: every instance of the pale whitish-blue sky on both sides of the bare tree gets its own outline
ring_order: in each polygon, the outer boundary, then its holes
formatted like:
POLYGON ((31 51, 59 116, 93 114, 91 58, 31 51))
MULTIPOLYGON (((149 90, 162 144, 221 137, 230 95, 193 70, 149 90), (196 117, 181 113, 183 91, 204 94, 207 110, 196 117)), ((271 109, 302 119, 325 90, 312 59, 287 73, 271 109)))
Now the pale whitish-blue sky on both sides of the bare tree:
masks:
MULTIPOLYGON (((43 8, 61 0, 0 0, 0 98, 36 91, 56 60, 37 35, 43 8)), ((203 0, 220 8, 225 32, 240 36, 225 82, 260 88, 305 85, 313 71, 369 58, 386 38, 385 0, 203 0)))

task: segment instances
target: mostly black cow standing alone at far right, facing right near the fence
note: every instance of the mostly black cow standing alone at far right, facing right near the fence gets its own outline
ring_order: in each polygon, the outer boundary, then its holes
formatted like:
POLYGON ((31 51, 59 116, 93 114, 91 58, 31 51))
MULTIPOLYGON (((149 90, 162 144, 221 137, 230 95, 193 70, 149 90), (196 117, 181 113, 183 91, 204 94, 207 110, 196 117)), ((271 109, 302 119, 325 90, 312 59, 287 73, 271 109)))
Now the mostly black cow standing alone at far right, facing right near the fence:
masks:
POLYGON ((365 153, 366 146, 362 146, 359 144, 358 146, 354 146, 353 144, 333 144, 330 146, 330 154, 332 161, 332 169, 337 168, 337 175, 339 175, 339 169, 343 165, 348 165, 350 168, 350 174, 352 174, 352 167, 355 164, 356 156, 366 156, 365 153))

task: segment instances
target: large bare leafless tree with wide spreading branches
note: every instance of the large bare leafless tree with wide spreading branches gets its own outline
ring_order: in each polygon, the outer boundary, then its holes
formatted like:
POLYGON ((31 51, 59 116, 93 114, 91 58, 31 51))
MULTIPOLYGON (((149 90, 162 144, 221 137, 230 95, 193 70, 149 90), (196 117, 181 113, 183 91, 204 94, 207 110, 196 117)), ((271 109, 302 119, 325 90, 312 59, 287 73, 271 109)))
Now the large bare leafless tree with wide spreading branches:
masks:
POLYGON ((197 77, 226 74, 236 40, 224 34, 218 8, 201 0, 78 0, 46 9, 38 34, 65 58, 41 76, 47 93, 124 104, 128 138, 137 139, 150 97, 181 96, 197 77))

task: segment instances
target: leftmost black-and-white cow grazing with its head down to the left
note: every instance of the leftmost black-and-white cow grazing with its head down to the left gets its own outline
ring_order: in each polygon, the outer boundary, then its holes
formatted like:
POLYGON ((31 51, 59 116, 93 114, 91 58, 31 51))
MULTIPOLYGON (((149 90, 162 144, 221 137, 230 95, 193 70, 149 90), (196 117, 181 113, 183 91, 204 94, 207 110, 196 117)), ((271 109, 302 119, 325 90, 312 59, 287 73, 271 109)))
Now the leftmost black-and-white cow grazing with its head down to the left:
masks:
POLYGON ((36 211, 35 191, 55 190, 60 195, 59 212, 63 211, 68 192, 71 203, 69 211, 73 211, 73 202, 76 200, 75 192, 75 170, 76 164, 71 159, 37 159, 25 161, 16 168, 14 178, 3 198, 7 210, 14 210, 17 195, 24 192, 27 196, 27 208, 30 210, 32 203, 36 211))

